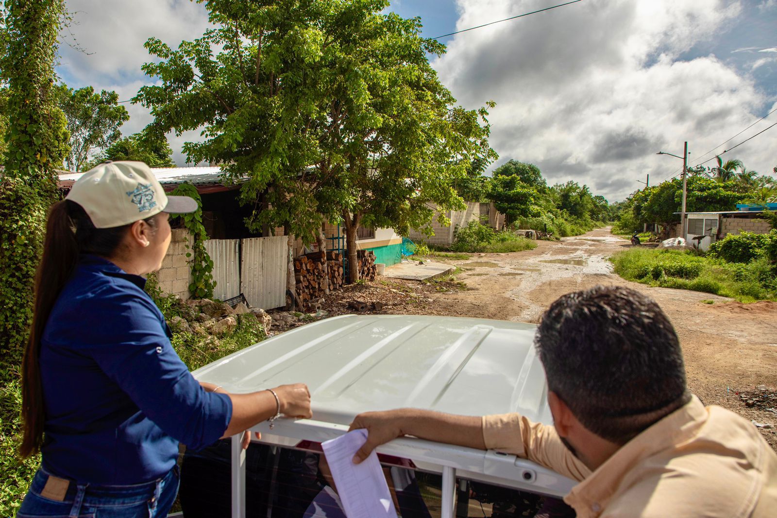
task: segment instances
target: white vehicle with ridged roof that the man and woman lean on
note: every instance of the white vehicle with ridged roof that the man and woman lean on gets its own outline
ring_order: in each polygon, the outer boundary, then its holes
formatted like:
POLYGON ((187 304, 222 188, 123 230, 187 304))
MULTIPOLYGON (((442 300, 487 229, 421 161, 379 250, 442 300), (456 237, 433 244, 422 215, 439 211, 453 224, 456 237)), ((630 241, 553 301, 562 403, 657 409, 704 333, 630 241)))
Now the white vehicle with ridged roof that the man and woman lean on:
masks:
MULTIPOLYGON (((307 383, 312 419, 281 419, 272 430, 267 423, 253 430, 261 432, 259 442, 274 451, 281 447, 318 453, 320 443, 347 432, 363 411, 402 407, 463 415, 517 411, 536 422, 551 423, 534 334, 533 324, 503 320, 346 315, 262 341, 197 369, 194 376, 235 393, 307 383)), ((421 493, 432 515, 443 518, 468 516, 468 506, 483 503, 466 502, 473 495, 466 489, 469 483, 479 485, 474 495, 509 488, 556 498, 574 485, 513 455, 422 439, 395 439, 379 447, 378 454, 387 466, 424 474, 425 483, 437 477, 439 488, 424 486, 421 493), (434 495, 436 502, 427 501, 434 495)), ((233 438, 232 516, 241 518, 246 516, 245 458, 239 438, 233 438)), ((486 516, 486 507, 481 505, 471 516, 486 516)))

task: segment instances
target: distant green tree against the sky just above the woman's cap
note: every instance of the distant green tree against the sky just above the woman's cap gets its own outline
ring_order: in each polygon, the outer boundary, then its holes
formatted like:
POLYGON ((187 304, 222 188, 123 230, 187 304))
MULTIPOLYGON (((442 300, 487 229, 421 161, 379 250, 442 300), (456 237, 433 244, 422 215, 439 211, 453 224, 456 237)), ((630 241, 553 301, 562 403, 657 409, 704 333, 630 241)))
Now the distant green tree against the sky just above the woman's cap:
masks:
POLYGON ((70 152, 65 165, 71 171, 84 170, 95 149, 104 149, 121 138, 119 128, 130 120, 130 114, 118 103, 119 94, 106 90, 95 93, 92 86, 57 86, 57 99, 70 131, 70 152))

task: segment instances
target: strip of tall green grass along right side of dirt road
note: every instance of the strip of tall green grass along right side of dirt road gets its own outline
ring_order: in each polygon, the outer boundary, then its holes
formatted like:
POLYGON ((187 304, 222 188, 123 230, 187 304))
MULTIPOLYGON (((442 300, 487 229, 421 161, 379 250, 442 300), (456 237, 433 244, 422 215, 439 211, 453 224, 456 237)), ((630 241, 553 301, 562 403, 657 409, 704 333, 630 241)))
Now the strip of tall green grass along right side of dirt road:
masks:
POLYGON ((622 278, 651 286, 713 293, 743 303, 777 299, 775 267, 765 257, 728 263, 691 251, 631 248, 610 261, 622 278))

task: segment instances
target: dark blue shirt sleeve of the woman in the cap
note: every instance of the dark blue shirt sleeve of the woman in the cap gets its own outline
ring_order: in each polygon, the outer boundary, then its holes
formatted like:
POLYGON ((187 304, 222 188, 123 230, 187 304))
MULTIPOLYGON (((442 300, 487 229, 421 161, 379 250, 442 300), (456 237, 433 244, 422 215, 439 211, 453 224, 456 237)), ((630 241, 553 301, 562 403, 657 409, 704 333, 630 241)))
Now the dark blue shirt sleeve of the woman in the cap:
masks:
MULTIPOLYGON (((151 300, 134 294, 106 299, 117 312, 94 358, 162 431, 193 449, 214 443, 232 418, 226 394, 204 390, 179 359, 151 300)), ((97 324, 99 325, 99 324, 97 324)), ((92 333, 93 334, 93 333, 92 333)))

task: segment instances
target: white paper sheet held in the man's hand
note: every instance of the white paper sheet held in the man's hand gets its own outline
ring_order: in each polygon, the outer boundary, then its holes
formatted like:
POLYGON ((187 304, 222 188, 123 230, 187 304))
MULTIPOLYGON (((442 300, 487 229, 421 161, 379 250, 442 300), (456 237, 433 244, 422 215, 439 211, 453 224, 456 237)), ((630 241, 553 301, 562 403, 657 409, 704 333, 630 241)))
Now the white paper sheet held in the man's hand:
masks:
POLYGON ((343 510, 348 518, 397 518, 378 454, 373 451, 354 464, 354 455, 365 442, 367 430, 359 429, 321 445, 343 510))

